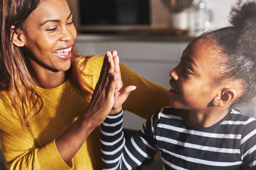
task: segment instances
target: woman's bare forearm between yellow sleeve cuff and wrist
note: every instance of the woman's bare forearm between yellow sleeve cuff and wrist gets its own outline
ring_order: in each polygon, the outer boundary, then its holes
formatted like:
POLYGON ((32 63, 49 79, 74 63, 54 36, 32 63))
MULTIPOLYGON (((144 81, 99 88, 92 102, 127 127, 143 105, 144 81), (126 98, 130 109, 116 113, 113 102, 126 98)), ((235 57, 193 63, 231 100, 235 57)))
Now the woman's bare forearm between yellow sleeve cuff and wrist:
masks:
POLYGON ((77 153, 84 141, 94 130, 89 119, 81 115, 69 128, 55 140, 57 150, 61 158, 68 163, 77 153))

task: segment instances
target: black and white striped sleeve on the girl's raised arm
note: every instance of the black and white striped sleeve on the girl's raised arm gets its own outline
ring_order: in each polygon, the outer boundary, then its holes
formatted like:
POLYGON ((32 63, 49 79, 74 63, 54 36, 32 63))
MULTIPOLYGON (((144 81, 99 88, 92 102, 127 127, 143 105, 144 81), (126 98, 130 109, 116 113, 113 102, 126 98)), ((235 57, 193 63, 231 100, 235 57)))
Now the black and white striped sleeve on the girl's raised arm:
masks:
POLYGON ((143 124, 143 129, 127 141, 122 131, 123 110, 109 115, 101 125, 101 152, 105 169, 132 169, 152 162, 157 152, 154 128, 158 114, 143 124))

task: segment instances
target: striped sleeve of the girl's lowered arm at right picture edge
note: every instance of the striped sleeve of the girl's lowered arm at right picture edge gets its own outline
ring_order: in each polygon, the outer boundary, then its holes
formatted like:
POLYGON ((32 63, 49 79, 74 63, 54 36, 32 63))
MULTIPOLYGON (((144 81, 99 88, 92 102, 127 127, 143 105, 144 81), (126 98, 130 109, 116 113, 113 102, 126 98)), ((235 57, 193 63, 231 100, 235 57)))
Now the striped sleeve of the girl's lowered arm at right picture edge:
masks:
POLYGON ((242 161, 256 169, 256 120, 250 117, 243 127, 240 153, 242 161))

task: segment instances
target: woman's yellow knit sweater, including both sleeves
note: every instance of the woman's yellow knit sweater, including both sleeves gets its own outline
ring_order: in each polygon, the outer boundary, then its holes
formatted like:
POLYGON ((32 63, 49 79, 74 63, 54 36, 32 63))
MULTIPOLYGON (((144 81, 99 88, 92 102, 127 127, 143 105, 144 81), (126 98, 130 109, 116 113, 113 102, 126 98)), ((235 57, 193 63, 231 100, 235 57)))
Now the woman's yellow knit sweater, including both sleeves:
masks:
MULTIPOLYGON (((92 75, 84 76, 84 79, 93 89, 102 63, 103 57, 92 57, 84 70, 92 75)), ((148 119, 158 109, 169 105, 166 88, 137 75, 123 64, 120 68, 124 86, 137 86, 123 104, 124 109, 148 119)), ((100 127, 90 134, 68 165, 55 145, 55 139, 86 110, 88 97, 82 95, 70 80, 51 89, 36 87, 36 90, 42 97, 43 107, 31 120, 33 135, 22 128, 6 91, 0 92, 0 138, 5 166, 8 169, 103 169, 100 127)))

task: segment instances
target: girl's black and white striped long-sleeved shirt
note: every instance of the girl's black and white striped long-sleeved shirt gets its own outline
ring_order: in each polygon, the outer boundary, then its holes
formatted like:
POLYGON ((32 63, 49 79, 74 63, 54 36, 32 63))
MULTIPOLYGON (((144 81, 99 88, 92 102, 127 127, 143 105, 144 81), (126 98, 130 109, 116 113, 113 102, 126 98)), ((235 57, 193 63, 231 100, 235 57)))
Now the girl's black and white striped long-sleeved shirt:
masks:
MULTIPOLYGON (((125 141, 123 111, 101 125, 106 169, 132 169, 160 151, 163 169, 256 169, 256 120, 237 109, 210 127, 184 122, 181 109, 162 108, 125 141)), ((131 122, 132 123, 132 122, 131 122)))

